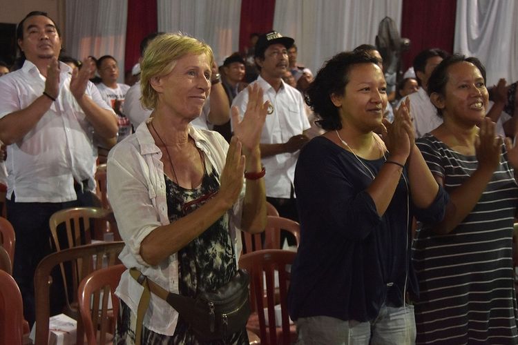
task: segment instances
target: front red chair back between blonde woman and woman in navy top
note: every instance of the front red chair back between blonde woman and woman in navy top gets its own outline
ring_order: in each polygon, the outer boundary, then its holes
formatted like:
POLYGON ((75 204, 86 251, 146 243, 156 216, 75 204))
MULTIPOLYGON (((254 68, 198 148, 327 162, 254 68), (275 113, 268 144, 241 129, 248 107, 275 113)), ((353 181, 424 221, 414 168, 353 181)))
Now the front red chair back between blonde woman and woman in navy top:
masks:
POLYGON ((261 344, 290 344, 287 292, 289 270, 295 256, 296 253, 289 250, 269 249, 257 250, 240 257, 240 268, 246 269, 250 274, 250 301, 252 310, 258 311, 261 344), (278 290, 275 286, 277 274, 278 290), (280 302, 282 339, 277 339, 276 302, 280 302), (262 313, 265 308, 267 308, 268 326, 266 326, 265 313, 262 313))

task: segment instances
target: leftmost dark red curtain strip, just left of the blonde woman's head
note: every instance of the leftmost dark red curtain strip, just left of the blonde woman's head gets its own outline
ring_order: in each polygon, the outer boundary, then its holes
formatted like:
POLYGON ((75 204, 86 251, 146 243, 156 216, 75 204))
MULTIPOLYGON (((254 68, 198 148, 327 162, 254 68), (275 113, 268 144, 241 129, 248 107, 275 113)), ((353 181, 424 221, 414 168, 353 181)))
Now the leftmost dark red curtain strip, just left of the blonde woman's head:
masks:
POLYGON ((124 68, 131 70, 140 57, 140 41, 157 31, 157 1, 128 0, 124 68))

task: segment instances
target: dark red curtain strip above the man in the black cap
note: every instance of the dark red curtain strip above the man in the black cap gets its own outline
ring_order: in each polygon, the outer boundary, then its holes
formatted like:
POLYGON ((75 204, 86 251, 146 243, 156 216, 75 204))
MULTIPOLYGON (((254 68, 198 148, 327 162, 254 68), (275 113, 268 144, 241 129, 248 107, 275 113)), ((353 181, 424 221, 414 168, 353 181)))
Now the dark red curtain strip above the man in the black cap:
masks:
MULTIPOLYGON (((274 26, 275 0, 242 0, 239 28, 239 51, 248 46, 250 34, 264 34, 274 26)), ((282 32, 281 32, 282 33, 282 32)))

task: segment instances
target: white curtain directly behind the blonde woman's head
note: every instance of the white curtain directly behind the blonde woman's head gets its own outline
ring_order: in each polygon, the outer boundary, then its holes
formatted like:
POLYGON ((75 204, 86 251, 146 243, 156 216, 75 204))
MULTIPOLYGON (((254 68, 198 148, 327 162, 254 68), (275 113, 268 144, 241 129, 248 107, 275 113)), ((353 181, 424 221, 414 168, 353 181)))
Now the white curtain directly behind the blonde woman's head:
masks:
POLYGON ((239 50, 241 0, 157 0, 158 31, 190 34, 211 46, 216 63, 239 50))

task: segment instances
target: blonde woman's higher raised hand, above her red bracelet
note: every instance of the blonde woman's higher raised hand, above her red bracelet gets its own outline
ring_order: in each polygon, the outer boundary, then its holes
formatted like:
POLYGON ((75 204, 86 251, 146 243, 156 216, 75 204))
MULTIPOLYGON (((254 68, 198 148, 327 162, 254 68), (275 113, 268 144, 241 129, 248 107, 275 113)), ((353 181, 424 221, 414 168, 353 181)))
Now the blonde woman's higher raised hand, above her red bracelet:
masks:
POLYGON ((262 88, 254 83, 248 86, 247 110, 244 112, 242 121, 239 120, 239 110, 236 106, 232 107, 232 124, 234 135, 238 137, 243 148, 254 150, 259 146, 259 139, 262 126, 265 124, 269 101, 262 101, 262 88))

